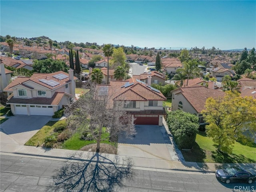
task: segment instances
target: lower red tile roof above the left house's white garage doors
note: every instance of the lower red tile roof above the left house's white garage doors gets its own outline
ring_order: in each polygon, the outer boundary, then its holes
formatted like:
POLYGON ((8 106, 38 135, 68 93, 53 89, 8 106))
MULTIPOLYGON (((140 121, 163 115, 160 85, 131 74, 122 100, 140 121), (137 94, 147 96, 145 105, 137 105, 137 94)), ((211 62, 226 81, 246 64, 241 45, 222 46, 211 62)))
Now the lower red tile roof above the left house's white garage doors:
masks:
POLYGON ((34 105, 58 106, 58 104, 60 103, 60 101, 62 100, 65 94, 72 97, 72 95, 64 92, 55 92, 52 98, 35 97, 31 99, 25 99, 25 98, 12 97, 6 103, 7 104, 34 104, 34 105))

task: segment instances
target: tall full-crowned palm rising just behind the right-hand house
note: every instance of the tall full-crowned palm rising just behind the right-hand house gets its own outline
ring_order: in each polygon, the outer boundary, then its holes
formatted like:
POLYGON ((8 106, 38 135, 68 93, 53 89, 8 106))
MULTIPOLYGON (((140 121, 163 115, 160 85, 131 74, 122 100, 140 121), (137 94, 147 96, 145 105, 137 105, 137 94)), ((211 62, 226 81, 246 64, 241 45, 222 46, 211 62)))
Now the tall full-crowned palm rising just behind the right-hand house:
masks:
POLYGON ((188 80, 193 79, 194 77, 200 77, 200 69, 198 68, 198 62, 196 60, 190 60, 188 62, 184 63, 184 74, 187 77, 187 84, 188 86, 188 80))

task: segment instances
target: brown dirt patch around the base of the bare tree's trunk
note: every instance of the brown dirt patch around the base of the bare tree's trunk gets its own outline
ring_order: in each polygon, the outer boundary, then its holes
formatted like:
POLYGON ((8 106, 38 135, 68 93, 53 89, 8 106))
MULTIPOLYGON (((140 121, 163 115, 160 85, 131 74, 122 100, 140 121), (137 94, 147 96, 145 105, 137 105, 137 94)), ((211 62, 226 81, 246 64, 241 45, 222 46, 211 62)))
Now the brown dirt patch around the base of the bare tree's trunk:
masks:
MULTIPOLYGON (((89 144, 89 145, 83 146, 80 149, 80 151, 96 152, 96 147, 97 147, 97 144, 89 144)), ((109 144, 101 143, 100 153, 117 154, 117 148, 109 144)))

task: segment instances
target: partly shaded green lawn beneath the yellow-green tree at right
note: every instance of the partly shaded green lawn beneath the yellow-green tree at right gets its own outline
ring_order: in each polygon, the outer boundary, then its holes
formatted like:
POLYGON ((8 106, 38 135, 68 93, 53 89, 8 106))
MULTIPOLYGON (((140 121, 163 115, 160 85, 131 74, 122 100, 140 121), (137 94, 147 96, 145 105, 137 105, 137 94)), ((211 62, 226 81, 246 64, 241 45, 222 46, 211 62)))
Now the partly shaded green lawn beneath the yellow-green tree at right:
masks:
POLYGON ((232 154, 218 152, 211 138, 204 132, 196 135, 196 144, 192 151, 182 151, 186 161, 216 163, 255 163, 256 145, 245 146, 236 142, 232 154))

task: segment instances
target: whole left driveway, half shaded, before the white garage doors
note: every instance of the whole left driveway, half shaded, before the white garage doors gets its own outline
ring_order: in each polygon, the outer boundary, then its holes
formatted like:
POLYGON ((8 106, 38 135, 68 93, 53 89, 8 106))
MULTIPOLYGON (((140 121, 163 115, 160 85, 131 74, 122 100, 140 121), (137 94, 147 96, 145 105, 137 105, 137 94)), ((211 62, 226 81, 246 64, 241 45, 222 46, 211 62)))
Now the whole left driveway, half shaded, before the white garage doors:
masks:
POLYGON ((1 144, 24 145, 50 119, 51 116, 12 116, 0 125, 1 144))

